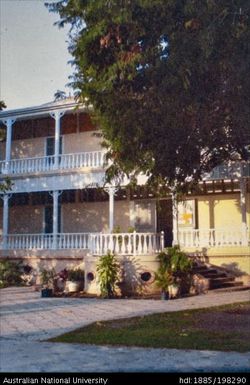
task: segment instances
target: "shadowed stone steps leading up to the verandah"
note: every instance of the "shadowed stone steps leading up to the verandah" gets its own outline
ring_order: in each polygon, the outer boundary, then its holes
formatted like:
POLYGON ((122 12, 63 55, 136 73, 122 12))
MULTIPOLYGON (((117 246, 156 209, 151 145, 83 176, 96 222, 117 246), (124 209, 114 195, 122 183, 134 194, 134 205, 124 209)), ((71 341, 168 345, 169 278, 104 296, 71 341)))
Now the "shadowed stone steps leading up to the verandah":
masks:
POLYGON ((232 291, 249 288, 249 286, 244 286, 243 282, 238 280, 233 273, 208 263, 195 261, 192 273, 206 282, 208 290, 232 291))

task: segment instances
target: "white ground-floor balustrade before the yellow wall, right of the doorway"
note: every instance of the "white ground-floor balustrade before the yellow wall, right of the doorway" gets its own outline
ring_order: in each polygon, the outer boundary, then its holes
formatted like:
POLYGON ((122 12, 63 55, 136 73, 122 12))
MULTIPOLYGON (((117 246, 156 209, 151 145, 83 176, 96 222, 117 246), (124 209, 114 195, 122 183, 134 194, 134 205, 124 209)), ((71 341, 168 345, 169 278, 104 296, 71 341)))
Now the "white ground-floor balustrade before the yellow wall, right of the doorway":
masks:
POLYGON ((179 229, 181 247, 226 247, 250 244, 249 231, 241 228, 228 229, 179 229))

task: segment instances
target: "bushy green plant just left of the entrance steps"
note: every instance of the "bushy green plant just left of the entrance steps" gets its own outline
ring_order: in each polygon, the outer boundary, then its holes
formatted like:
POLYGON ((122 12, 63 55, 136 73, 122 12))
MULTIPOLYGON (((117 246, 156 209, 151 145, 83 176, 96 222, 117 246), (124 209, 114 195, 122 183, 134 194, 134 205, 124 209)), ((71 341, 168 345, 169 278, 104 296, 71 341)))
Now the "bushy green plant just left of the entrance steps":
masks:
POLYGON ((171 284, 181 284, 188 278, 192 262, 179 246, 168 247, 166 252, 157 255, 160 266, 155 274, 156 285, 168 291, 171 284))

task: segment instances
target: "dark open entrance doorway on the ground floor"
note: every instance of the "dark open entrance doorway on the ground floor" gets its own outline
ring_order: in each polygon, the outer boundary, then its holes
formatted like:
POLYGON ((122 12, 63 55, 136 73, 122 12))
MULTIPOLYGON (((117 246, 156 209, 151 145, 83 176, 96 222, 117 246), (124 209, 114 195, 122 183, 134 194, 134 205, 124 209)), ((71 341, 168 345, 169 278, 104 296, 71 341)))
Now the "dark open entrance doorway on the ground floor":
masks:
POLYGON ((164 231, 165 247, 173 242, 173 208, 172 199, 157 202, 157 232, 164 231))

